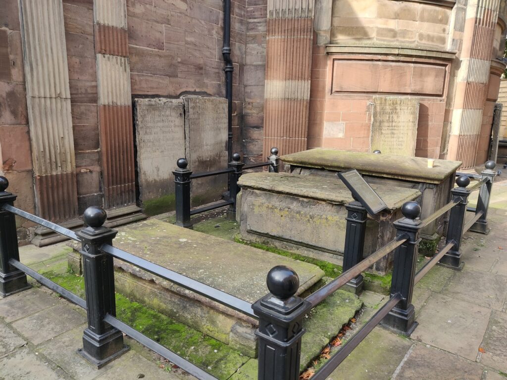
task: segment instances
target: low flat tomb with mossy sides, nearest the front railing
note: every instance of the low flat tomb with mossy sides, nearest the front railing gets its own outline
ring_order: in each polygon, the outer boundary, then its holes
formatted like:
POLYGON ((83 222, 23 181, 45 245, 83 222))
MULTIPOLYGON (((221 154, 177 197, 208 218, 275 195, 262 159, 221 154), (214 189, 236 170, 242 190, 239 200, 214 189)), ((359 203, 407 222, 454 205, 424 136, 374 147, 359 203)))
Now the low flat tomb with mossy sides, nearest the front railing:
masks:
MULTIPOLYGON (((115 246, 248 302, 268 293, 266 276, 276 265, 287 265, 298 273, 298 294, 324 276, 313 264, 157 219, 123 226, 118 231, 115 246)), ((69 264, 81 273, 79 247, 74 247, 69 264)), ((255 319, 119 260, 115 260, 115 285, 129 298, 221 340, 244 355, 256 356, 255 319)))

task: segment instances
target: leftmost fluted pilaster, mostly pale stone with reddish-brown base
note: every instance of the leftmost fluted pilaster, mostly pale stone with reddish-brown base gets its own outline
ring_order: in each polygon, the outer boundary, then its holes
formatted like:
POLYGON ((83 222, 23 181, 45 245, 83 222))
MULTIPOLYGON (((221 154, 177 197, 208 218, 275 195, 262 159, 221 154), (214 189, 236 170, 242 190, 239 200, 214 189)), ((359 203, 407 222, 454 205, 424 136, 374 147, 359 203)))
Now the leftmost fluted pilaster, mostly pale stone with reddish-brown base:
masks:
POLYGON ((67 52, 60 0, 21 0, 26 98, 37 213, 78 214, 67 52))

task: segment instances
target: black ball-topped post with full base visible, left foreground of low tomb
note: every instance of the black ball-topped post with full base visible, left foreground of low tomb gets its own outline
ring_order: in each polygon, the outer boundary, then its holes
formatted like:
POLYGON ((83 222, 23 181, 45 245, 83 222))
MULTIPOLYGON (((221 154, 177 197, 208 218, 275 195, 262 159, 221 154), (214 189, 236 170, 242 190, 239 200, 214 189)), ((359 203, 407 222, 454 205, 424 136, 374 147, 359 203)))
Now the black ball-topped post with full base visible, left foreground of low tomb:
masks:
POLYGON ((83 348, 78 352, 97 368, 128 350, 123 344, 123 333, 104 322, 107 314, 116 316, 113 257, 100 247, 112 244, 117 231, 102 226, 106 217, 102 208, 88 207, 83 214, 87 227, 77 233, 81 238, 88 318, 83 348))

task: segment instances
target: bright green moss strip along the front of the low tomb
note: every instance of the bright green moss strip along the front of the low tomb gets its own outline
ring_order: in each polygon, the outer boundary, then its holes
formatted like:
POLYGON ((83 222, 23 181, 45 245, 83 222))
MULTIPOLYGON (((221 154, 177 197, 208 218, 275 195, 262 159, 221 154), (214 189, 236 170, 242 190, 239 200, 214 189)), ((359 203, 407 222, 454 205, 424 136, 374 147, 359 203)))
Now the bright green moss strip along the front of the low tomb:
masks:
MULTIPOLYGON (((51 281, 84 297, 84 279, 72 273, 45 273, 51 281)), ((249 359, 219 340, 116 294, 118 319, 219 379, 227 379, 249 359)))

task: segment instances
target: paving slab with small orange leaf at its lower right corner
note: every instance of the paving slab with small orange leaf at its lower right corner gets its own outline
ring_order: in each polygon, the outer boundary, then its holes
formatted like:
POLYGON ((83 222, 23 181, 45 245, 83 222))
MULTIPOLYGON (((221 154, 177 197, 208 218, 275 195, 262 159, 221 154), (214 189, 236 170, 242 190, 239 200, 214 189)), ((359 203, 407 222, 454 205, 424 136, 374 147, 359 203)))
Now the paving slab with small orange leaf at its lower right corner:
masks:
POLYGON ((433 293, 417 321, 412 338, 475 361, 491 310, 433 293))

